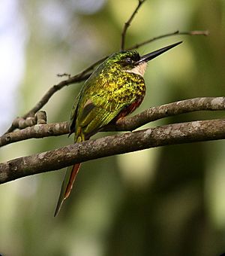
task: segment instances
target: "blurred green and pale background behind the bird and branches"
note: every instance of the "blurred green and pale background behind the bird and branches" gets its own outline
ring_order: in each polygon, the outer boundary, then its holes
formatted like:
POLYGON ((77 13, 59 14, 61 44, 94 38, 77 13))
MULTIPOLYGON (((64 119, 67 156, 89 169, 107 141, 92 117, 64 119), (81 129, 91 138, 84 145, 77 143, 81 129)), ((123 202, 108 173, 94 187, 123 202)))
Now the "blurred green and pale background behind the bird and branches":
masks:
MULTIPOLYGON (((58 73, 75 75, 119 50, 121 29, 136 0, 1 0, 0 131, 24 114, 58 73)), ((138 111, 180 99, 224 96, 224 0, 146 0, 126 45, 167 32, 139 53, 183 40, 154 59, 138 111)), ((69 119, 82 84, 65 87, 44 106, 49 122, 69 119)), ((136 112, 138 112, 136 111, 136 112)), ((148 124, 223 117, 198 112, 148 124)), ((98 136, 104 136, 103 133, 98 136)), ((1 148, 0 160, 73 143, 67 136, 30 139, 1 148)), ((11 255, 220 255, 225 252, 225 143, 154 148, 84 163, 57 218, 64 170, 0 186, 0 253, 11 255)))

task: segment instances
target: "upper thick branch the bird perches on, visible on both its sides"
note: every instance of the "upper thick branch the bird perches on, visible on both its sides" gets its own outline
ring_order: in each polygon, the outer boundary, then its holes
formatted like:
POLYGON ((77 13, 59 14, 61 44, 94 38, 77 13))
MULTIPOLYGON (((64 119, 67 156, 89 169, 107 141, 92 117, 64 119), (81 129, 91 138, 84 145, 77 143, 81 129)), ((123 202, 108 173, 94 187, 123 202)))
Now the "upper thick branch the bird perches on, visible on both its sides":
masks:
MULTIPOLYGON (((145 123, 175 114, 184 114, 192 111, 218 110, 225 110, 225 97, 185 99, 179 102, 172 102, 148 108, 140 114, 120 120, 116 125, 104 127, 104 131, 132 131, 145 123)), ((25 139, 61 136, 67 133, 69 133, 69 124, 67 122, 37 124, 26 129, 17 130, 13 133, 7 133, 4 136, 1 136, 0 147, 13 142, 20 142, 25 139)))

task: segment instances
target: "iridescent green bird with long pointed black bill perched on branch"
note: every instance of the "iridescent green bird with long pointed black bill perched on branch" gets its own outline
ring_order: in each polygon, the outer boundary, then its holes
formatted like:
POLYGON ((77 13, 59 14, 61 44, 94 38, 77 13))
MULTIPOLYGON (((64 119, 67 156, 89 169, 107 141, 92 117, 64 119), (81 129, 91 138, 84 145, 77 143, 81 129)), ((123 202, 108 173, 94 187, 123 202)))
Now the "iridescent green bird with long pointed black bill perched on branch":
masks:
MULTIPOLYGON (((114 53, 106 59, 83 84, 71 113, 70 134, 74 142, 83 142, 109 123, 133 112, 145 96, 143 75, 150 59, 181 44, 171 44, 152 53, 139 56, 136 51, 114 53)), ((70 195, 80 163, 68 167, 55 209, 70 195)))

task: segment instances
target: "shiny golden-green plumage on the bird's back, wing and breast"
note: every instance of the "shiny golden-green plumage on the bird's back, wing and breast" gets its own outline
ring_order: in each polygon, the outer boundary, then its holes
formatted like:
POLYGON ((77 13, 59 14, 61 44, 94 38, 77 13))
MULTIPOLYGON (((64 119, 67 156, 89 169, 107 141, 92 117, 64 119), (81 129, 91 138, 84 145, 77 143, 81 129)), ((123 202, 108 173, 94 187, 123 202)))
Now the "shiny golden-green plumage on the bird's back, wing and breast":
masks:
MULTIPOLYGON (((129 52, 128 52, 129 53, 129 52)), ((145 95, 144 80, 122 69, 115 60, 107 59, 83 85, 80 102, 74 110, 75 137, 89 137, 110 123, 125 107, 145 95)))

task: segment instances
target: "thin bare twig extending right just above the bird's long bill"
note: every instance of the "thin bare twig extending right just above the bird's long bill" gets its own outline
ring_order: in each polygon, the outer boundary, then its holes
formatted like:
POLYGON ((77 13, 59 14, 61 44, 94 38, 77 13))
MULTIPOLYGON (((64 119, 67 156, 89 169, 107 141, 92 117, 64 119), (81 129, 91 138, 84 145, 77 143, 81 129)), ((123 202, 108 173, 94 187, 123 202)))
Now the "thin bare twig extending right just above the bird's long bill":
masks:
POLYGON ((133 49, 137 49, 145 44, 149 44, 151 43, 152 41, 156 41, 160 38, 166 38, 166 37, 169 37, 169 36, 172 36, 172 35, 209 35, 209 32, 208 30, 202 30, 202 31, 199 31, 199 30, 194 30, 194 31, 187 31, 187 32, 179 32, 178 30, 176 30, 175 32, 170 32, 170 33, 167 33, 167 34, 164 34, 164 35, 159 35, 155 38, 151 38, 151 39, 148 39, 146 41, 142 41, 142 43, 139 43, 139 44, 135 44, 129 48, 127 48, 126 50, 133 50, 133 49))

